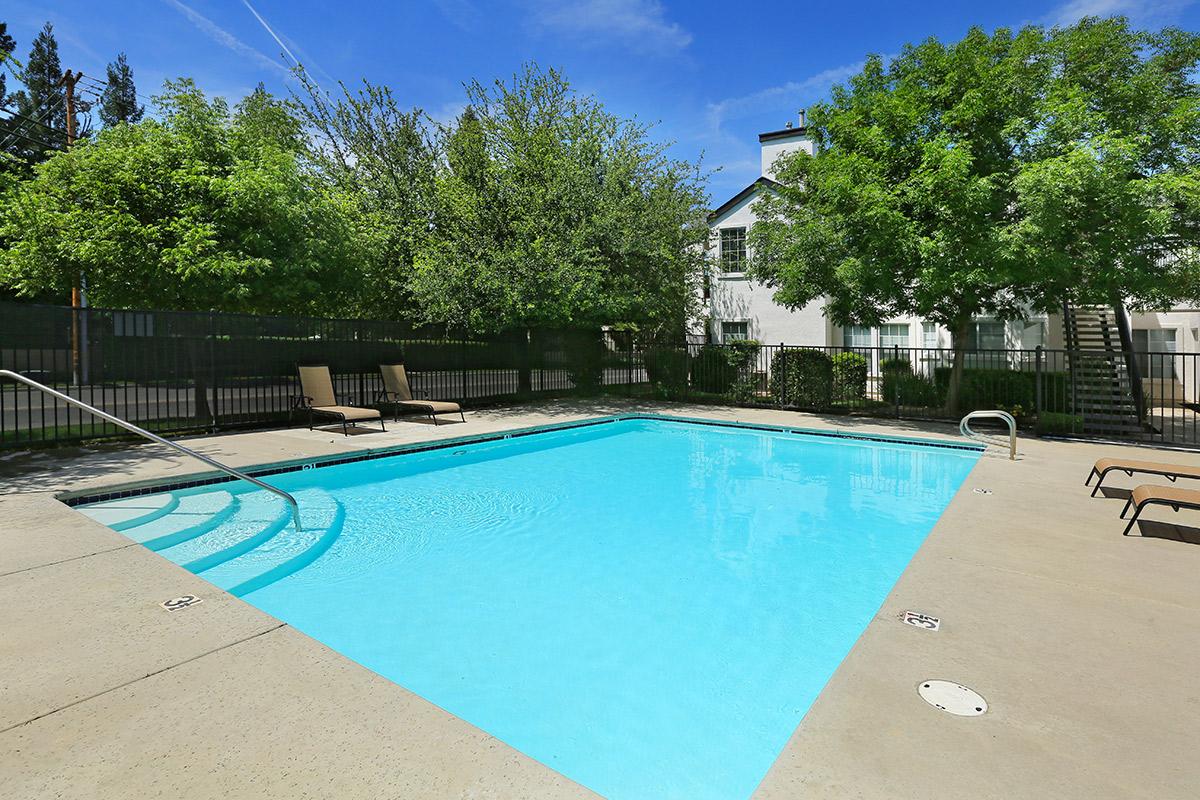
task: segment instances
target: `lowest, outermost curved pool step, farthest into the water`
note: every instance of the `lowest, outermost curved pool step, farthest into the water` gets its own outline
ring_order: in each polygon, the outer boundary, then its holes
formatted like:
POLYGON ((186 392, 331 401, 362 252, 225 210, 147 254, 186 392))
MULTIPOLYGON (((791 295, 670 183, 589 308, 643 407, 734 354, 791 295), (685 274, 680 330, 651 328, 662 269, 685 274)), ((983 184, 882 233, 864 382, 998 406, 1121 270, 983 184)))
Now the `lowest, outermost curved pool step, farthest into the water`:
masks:
POLYGON ((296 534, 294 528, 287 525, 258 547, 202 572, 202 577, 240 597, 320 558, 342 533, 346 510, 323 489, 299 492, 296 501, 300 504, 304 531, 296 534))

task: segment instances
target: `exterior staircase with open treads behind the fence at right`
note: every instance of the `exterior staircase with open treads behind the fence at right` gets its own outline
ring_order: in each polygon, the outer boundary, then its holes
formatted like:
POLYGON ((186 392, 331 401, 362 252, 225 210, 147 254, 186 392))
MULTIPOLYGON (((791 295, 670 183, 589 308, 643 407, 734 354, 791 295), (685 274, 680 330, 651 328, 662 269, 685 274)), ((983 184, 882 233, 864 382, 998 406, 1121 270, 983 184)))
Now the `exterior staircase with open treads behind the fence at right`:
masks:
POLYGON ((1066 306, 1063 335, 1070 373, 1070 404, 1082 433, 1140 435, 1139 417, 1116 312, 1110 306, 1066 306))

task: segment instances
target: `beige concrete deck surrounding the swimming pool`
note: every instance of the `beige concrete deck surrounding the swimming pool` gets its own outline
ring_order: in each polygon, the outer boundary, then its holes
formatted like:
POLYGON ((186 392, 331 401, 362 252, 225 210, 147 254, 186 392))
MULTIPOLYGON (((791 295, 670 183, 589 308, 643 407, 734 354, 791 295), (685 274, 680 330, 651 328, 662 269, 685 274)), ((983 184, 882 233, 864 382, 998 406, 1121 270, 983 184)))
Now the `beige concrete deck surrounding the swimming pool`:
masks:
MULTIPOLYGON (((960 440, 941 425, 563 402, 187 444, 252 465, 625 411, 960 440)), ((1200 513, 1147 511, 1145 535, 1122 537, 1120 489, 1159 480, 1114 475, 1111 498, 1082 486, 1102 456, 1200 456, 1019 450, 979 461, 756 799, 1200 794, 1200 513), (905 609, 941 630, 901 624, 905 609), (926 679, 971 686, 988 714, 926 705, 926 679)), ((154 445, 0 459, 0 796, 595 796, 55 499, 199 471, 154 445), (204 602, 158 606, 185 594, 204 602)))

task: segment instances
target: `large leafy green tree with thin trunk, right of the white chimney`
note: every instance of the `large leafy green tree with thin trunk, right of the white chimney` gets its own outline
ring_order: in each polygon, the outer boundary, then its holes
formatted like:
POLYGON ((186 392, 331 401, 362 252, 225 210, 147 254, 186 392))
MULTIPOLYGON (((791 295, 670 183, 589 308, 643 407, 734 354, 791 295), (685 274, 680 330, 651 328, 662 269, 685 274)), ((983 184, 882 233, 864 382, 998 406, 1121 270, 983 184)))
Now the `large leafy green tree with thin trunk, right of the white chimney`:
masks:
POLYGON ((1195 219, 1193 48, 1189 34, 1133 34, 1118 19, 972 29, 906 46, 888 65, 869 58, 812 109, 817 155, 785 160, 781 188, 756 205, 752 275, 791 307, 827 297, 840 324, 916 314, 947 326, 952 411, 974 315, 1148 299, 1156 285, 1159 300, 1182 296, 1164 285, 1162 258, 1133 254, 1163 243, 1166 227, 1151 221, 1180 231, 1195 219), (1122 38, 1120 53, 1102 52, 1122 38), (1152 109, 1135 108, 1144 101, 1152 109), (1157 187, 1145 172, 1156 161, 1157 187), (1140 210, 1123 207, 1134 196, 1140 210), (1098 243, 1094 258, 1076 239, 1098 243))

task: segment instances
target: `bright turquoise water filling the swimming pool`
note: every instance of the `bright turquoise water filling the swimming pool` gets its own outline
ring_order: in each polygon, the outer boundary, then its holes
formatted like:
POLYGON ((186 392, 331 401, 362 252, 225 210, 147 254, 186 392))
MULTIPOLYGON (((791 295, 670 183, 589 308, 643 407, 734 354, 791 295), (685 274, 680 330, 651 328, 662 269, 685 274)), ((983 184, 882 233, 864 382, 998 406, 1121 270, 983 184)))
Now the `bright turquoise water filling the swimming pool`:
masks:
POLYGON ((86 511, 605 796, 744 799, 977 458, 624 420, 271 476, 299 536, 86 511))

